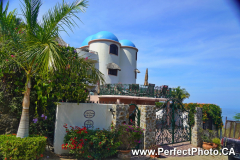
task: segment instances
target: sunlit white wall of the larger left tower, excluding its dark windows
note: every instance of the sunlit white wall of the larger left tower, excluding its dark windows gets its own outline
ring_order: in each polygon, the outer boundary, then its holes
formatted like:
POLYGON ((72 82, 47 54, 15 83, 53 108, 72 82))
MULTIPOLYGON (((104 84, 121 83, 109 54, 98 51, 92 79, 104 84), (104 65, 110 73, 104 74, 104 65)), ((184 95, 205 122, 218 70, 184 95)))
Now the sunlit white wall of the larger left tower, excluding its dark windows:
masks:
MULTIPOLYGON (((118 43, 99 40, 96 42, 91 42, 89 45, 89 50, 97 51, 99 58, 99 71, 104 74, 105 83, 118 83, 119 82, 119 74, 121 71, 118 71, 117 76, 108 75, 107 64, 115 63, 119 65, 119 57, 120 57, 120 46, 118 43), (118 56, 109 54, 109 49, 111 44, 116 44, 118 46, 118 56)), ((121 68, 121 67, 120 67, 121 68)))

